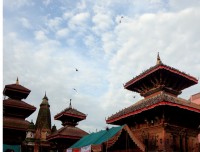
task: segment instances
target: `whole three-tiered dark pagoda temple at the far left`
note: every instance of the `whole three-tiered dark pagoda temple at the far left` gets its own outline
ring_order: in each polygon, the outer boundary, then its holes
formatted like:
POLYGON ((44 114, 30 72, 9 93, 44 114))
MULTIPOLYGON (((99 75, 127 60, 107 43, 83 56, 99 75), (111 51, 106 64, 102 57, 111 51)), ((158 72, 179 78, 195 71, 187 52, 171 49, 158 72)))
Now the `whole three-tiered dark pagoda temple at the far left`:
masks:
POLYGON ((15 84, 6 85, 3 90, 3 144, 4 149, 21 148, 26 137, 29 122, 25 120, 36 107, 26 103, 31 91, 19 84, 18 78, 15 84), (7 148, 5 148, 7 147, 7 148))

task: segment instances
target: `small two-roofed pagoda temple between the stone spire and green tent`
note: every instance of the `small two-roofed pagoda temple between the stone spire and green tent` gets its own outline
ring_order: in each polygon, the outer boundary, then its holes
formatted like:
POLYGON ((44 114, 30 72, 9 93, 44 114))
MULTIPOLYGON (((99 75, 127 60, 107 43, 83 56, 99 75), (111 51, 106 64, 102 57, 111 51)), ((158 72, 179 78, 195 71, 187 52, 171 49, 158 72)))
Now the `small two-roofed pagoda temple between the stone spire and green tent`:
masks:
POLYGON ((79 121, 86 119, 86 115, 72 108, 71 99, 69 107, 55 115, 54 119, 60 120, 63 127, 52 132, 52 134, 47 137, 47 140, 56 143, 56 149, 59 152, 63 152, 80 138, 88 134, 76 127, 79 121))

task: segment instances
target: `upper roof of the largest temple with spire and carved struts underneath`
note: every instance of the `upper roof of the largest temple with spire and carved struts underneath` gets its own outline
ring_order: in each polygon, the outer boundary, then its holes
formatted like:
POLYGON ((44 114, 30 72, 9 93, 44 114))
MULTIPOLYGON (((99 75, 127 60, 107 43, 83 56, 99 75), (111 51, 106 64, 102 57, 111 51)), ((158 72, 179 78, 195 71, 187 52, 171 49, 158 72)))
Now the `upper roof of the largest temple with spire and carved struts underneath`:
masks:
POLYGON ((163 64, 158 55, 155 66, 128 81, 124 88, 140 93, 144 97, 158 91, 177 96, 182 93, 183 89, 197 83, 198 80, 195 77, 163 64))

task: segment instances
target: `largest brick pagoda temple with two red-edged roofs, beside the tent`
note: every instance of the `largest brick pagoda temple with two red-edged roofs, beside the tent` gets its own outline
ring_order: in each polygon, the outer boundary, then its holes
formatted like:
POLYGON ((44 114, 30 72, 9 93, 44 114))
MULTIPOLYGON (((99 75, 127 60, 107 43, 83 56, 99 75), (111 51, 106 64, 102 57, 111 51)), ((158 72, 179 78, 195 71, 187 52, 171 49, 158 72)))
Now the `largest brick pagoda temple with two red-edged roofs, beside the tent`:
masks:
POLYGON ((178 97, 182 90, 197 83, 195 77, 163 64, 158 54, 155 66, 124 85, 144 99, 108 117, 106 122, 127 124, 144 143, 145 151, 199 152, 200 105, 178 97))

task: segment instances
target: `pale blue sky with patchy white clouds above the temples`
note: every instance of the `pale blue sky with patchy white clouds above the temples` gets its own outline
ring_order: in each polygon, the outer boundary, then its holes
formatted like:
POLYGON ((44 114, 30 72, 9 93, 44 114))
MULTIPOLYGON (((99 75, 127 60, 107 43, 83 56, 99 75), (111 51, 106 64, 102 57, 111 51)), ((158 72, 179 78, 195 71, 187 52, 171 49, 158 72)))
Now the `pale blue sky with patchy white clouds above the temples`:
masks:
MULTIPOLYGON (((198 0, 4 0, 3 88, 31 90, 25 102, 49 99, 54 116, 69 106, 87 114, 78 127, 94 132, 142 97, 123 84, 156 64, 200 77, 198 0), (76 71, 78 69, 78 71, 76 71), (135 96, 135 98, 133 98, 135 96)), ((183 90, 189 99, 200 85, 183 90)))

